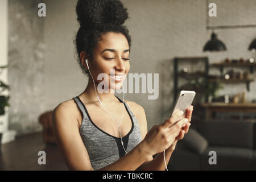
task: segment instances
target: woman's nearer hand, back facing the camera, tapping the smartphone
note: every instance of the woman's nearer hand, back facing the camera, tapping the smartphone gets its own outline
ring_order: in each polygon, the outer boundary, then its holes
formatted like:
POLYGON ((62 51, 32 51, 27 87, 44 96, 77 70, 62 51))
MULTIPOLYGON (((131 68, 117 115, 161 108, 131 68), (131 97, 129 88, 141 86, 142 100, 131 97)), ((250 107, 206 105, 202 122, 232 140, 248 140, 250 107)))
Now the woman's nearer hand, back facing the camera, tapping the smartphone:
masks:
POLYGON ((147 154, 152 156, 169 148, 188 121, 188 118, 184 118, 183 111, 177 111, 161 125, 153 126, 142 141, 147 154))

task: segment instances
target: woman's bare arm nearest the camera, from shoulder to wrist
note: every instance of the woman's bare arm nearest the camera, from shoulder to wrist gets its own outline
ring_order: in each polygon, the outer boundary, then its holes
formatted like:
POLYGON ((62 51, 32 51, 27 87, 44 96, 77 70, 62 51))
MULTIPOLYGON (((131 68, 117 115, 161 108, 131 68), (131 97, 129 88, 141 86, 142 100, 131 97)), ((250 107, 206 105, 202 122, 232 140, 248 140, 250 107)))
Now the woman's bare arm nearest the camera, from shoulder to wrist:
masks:
MULTIPOLYGON (((64 102, 53 111, 56 142, 70 170, 94 170, 82 142, 77 119, 72 115, 74 114, 71 113, 70 106, 64 102)), ((121 159, 100 170, 135 170, 152 157, 146 148, 141 142, 121 159)))

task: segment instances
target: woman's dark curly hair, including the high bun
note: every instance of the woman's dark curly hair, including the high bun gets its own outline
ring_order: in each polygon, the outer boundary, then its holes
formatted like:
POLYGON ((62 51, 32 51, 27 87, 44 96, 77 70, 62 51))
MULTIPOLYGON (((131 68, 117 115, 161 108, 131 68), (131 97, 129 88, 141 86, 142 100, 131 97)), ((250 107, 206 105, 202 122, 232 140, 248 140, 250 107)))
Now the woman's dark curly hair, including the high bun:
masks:
POLYGON ((108 32, 122 33, 131 46, 131 37, 123 25, 128 17, 127 9, 119 0, 79 0, 76 5, 77 20, 80 24, 76 34, 77 61, 82 73, 89 75, 88 69, 82 65, 80 53, 86 52, 88 59, 93 60, 93 49, 108 32))

